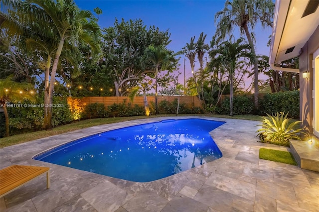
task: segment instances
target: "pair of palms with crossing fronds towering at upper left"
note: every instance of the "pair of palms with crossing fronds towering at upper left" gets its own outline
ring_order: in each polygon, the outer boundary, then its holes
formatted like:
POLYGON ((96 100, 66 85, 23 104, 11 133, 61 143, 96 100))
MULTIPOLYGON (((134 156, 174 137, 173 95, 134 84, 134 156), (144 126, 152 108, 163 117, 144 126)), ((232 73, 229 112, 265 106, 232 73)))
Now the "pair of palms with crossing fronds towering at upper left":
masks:
MULTIPOLYGON (((73 0, 4 0, 2 3, 8 8, 1 12, 2 32, 22 40, 20 44, 26 52, 36 51, 46 58, 44 104, 52 105, 56 73, 58 68, 62 69, 60 56, 73 66, 72 74, 77 76, 81 59, 79 45, 90 46, 92 57, 101 53, 100 26, 90 11, 80 10, 73 0)), ((52 107, 45 107, 44 128, 52 128, 51 119, 52 107)))

